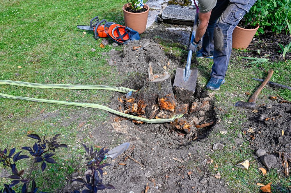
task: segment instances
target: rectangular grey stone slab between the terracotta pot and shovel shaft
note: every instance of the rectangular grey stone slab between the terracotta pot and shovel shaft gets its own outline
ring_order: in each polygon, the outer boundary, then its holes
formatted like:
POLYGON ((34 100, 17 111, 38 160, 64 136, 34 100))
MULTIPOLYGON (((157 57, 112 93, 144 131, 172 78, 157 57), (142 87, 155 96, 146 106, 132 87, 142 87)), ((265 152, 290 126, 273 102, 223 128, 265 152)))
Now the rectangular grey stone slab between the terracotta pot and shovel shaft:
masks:
POLYGON ((195 13, 196 9, 189 9, 189 7, 177 5, 168 5, 163 10, 161 18, 163 20, 177 21, 177 23, 186 22, 187 25, 189 25, 189 23, 194 22, 195 13))

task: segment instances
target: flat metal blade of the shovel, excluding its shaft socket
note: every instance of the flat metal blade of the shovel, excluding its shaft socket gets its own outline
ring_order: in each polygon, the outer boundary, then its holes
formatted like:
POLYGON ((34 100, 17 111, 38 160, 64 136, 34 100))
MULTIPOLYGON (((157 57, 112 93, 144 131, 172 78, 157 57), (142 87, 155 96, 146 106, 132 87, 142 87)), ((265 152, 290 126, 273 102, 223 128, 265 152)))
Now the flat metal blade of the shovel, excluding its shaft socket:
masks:
POLYGON ((185 68, 182 66, 178 66, 176 70, 176 75, 174 79, 174 85, 179 88, 184 88, 188 91, 192 91, 193 93, 196 90, 196 81, 197 81, 197 74, 198 74, 198 68, 190 68, 191 74, 187 81, 184 81, 183 78, 183 70, 185 68))

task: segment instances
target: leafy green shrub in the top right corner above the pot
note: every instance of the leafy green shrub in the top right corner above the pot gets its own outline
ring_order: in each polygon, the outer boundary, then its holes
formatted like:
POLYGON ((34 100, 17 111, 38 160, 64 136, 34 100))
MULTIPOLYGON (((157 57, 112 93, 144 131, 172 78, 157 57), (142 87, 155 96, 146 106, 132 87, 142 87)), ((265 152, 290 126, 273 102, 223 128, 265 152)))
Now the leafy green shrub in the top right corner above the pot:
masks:
POLYGON ((244 24, 260 25, 259 32, 272 30, 288 33, 288 21, 291 20, 291 0, 258 0, 249 13, 244 16, 244 24))

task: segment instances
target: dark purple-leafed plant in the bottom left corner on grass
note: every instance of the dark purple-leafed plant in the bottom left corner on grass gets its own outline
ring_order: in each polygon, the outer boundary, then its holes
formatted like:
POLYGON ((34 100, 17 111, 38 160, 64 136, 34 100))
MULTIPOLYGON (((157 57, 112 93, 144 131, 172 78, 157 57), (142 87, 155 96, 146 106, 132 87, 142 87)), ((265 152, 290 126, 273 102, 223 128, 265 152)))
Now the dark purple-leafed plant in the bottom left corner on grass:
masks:
MULTIPOLYGON (((4 188, 0 190, 0 192, 15 192, 12 187, 19 182, 24 183, 22 186, 21 192, 27 192, 27 187, 29 186, 31 172, 34 169, 34 164, 42 162, 41 168, 42 172, 47 167, 46 163, 56 163, 56 161, 52 158, 56 149, 59 147, 68 148, 65 144, 58 144, 56 139, 58 138, 60 134, 55 135, 53 138, 47 140, 45 139, 45 136, 43 137, 43 140, 40 139, 40 136, 37 134, 30 134, 29 137, 36 139, 37 143, 34 143, 33 147, 22 147, 23 150, 27 150, 31 156, 27 155, 20 155, 22 151, 15 153, 15 148, 7 151, 7 148, 4 150, 0 150, 0 163, 4 165, 4 167, 10 167, 11 172, 13 175, 8 176, 8 178, 13 179, 10 184, 4 184, 4 188), (13 156, 14 154, 14 156, 13 156), (16 168, 16 162, 21 159, 25 158, 33 158, 33 163, 29 172, 28 179, 25 179, 23 177, 24 170, 18 171, 16 168)), ((36 183, 34 180, 32 180, 32 186, 31 186, 31 192, 36 192, 38 188, 36 187, 36 183)))

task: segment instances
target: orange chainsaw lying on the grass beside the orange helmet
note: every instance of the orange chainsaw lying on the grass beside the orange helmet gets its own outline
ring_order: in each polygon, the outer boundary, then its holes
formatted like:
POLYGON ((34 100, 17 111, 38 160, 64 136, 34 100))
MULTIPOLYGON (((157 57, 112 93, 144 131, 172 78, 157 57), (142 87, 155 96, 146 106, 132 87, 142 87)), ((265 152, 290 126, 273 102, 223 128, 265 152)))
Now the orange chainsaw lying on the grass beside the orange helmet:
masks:
POLYGON ((107 30, 107 32, 108 32, 108 28, 112 24, 116 24, 116 23, 107 22, 105 19, 102 19, 101 21, 99 21, 98 16, 96 16, 96 17, 94 17, 93 19, 90 20, 90 26, 77 26, 77 28, 80 29, 80 30, 93 31, 94 32, 94 38, 98 39, 100 37, 102 37, 102 38, 108 37, 108 35, 107 35, 105 30, 107 30), (102 23, 104 23, 104 24, 102 24, 102 23))

